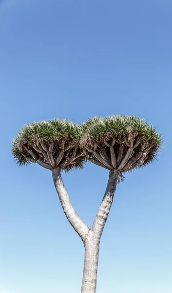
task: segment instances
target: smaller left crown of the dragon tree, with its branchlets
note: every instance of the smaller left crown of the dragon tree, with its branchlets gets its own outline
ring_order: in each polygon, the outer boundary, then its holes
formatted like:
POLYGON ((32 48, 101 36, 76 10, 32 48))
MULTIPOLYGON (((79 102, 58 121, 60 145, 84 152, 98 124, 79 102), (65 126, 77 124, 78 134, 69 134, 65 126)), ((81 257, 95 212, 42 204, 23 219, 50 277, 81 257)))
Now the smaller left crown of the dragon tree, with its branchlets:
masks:
POLYGON ((82 168, 85 155, 76 141, 79 126, 65 119, 29 123, 20 129, 12 143, 12 153, 19 165, 32 162, 64 171, 82 168))

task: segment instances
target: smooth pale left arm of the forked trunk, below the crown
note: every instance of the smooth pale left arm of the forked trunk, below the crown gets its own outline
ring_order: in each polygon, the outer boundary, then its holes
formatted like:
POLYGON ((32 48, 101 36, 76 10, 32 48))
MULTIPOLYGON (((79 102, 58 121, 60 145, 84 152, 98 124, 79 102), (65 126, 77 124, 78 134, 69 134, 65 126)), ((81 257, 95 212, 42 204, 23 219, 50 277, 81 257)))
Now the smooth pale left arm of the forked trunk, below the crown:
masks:
POLYGON ((63 211, 69 223, 76 230, 77 234, 81 237, 82 241, 85 242, 85 238, 88 234, 89 228, 84 223, 84 221, 79 217, 76 210, 72 206, 69 195, 64 187, 60 171, 58 169, 54 169, 52 171, 52 175, 63 211))

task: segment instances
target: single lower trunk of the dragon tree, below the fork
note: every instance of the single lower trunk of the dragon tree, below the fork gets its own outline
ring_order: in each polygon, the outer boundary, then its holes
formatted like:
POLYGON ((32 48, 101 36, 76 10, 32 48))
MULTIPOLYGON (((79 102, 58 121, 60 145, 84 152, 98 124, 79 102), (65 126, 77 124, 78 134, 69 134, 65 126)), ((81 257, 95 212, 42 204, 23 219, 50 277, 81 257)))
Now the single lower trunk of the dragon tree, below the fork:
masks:
POLYGON ((93 230, 89 230, 85 242, 84 273, 81 293, 96 293, 99 240, 93 230))

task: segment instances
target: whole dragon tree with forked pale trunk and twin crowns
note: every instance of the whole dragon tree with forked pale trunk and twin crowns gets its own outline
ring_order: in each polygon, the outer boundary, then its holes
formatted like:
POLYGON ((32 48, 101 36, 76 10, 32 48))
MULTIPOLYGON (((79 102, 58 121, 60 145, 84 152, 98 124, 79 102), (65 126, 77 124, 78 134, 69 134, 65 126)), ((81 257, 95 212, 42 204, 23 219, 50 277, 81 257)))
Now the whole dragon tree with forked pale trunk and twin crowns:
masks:
POLYGON ((81 293, 96 293, 100 238, 123 173, 145 167, 157 157, 162 138, 156 128, 134 116, 93 117, 76 125, 64 119, 34 122, 20 129, 12 153, 19 165, 37 163, 52 171, 63 211, 85 247, 81 293), (93 226, 76 213, 61 172, 90 161, 109 172, 105 194, 93 226))

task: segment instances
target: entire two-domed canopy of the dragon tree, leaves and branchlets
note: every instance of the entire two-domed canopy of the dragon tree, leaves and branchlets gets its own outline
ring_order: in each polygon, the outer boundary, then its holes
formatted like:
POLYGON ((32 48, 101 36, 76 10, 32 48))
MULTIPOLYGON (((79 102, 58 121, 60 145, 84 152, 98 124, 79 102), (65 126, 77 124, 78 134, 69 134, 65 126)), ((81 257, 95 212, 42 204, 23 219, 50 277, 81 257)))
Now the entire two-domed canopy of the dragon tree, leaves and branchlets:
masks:
POLYGON ((92 117, 78 125, 65 119, 26 124, 12 143, 19 165, 64 171, 85 162, 120 172, 143 167, 157 157, 162 137, 156 128, 135 116, 92 117))

